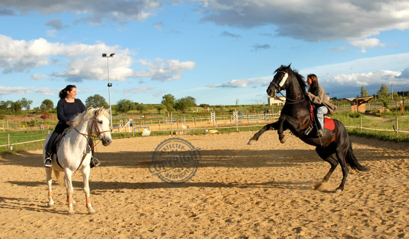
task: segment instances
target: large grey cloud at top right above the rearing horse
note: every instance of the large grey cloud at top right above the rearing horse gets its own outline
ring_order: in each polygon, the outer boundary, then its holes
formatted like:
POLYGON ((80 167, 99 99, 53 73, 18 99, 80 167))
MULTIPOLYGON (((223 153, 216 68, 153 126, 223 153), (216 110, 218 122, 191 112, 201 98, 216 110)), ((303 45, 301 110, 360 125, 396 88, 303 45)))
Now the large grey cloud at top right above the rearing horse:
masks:
POLYGON ((354 40, 409 29, 409 2, 395 0, 198 0, 203 21, 239 28, 275 26, 307 41, 354 40))

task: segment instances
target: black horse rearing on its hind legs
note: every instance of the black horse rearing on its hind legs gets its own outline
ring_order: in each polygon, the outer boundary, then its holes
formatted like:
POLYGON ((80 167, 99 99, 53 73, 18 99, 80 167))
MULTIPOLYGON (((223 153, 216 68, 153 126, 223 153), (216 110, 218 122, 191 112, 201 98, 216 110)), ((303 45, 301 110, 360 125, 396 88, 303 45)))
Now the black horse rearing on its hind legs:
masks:
MULTIPOLYGON (((291 65, 291 64, 290 64, 291 65)), ((276 129, 281 143, 285 142, 284 130, 289 129, 294 135, 299 137, 305 143, 316 146, 315 151, 325 161, 331 164, 331 169, 325 175, 320 184, 315 185, 314 189, 319 188, 323 183, 327 183, 332 172, 338 163, 342 168, 342 182, 336 189, 336 193, 344 190, 344 184, 348 175, 348 165, 355 170, 367 171, 368 168, 359 164, 353 151, 351 140, 348 136, 344 124, 334 119, 335 128, 329 130, 324 128, 322 137, 316 136, 316 126, 310 115, 310 102, 305 96, 307 87, 304 77, 296 70, 291 70, 289 66, 281 66, 275 71, 275 75, 267 88, 267 94, 271 97, 276 96, 281 90, 286 92, 286 102, 281 111, 280 118, 274 123, 265 125, 260 131, 254 134, 248 144, 254 144, 266 130, 276 129), (314 129, 312 129, 314 128, 314 129), (311 130, 312 129, 312 130, 311 130)), ((316 121, 316 120, 314 120, 316 121)))

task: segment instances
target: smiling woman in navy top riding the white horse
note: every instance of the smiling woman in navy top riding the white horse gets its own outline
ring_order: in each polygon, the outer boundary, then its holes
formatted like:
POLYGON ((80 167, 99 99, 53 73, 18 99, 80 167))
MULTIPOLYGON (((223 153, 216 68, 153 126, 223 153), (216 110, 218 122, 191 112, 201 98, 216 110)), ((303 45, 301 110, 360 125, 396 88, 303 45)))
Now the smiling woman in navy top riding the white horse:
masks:
MULTIPOLYGON (((77 95, 77 88, 74 85, 68 85, 62 89, 59 93, 60 100, 57 103, 57 118, 58 123, 55 126, 54 131, 51 133, 48 139, 47 145, 45 147, 45 160, 44 166, 51 167, 51 147, 55 138, 64 132, 66 128, 71 126, 72 120, 78 114, 86 111, 84 104, 79 99, 75 99, 77 95)), ((91 141, 92 142, 92 141, 91 141)), ((97 159, 96 163, 91 160, 91 167, 98 166, 99 161, 97 159)))

